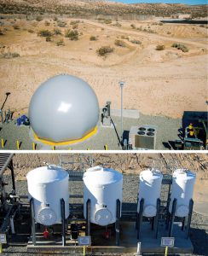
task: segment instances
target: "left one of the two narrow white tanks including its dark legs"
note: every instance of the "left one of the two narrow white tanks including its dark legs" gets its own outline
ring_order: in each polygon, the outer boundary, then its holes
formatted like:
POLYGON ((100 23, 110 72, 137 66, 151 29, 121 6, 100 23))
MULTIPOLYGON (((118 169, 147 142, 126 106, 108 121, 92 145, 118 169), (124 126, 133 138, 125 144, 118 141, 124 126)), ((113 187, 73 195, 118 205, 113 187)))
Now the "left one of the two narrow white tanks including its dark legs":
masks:
POLYGON ((142 218, 152 218, 152 230, 158 236, 160 190, 163 175, 159 170, 152 169, 140 173, 140 184, 138 193, 136 230, 137 239, 140 239, 142 218))

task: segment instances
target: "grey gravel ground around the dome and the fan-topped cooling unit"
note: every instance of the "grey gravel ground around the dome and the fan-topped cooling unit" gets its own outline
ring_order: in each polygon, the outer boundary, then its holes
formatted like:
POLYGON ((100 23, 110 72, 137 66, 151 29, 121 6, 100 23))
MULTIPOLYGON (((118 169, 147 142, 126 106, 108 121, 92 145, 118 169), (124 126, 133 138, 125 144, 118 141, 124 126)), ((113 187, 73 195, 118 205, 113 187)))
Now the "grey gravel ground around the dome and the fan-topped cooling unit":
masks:
MULTIPOLYGON (((120 136, 120 118, 112 117, 118 135, 120 136)), ((149 116, 140 113, 140 119, 124 118, 124 137, 128 135, 132 125, 157 125, 158 132, 156 138, 156 149, 170 149, 170 142, 178 138, 178 129, 182 126, 181 119, 170 119, 159 116, 149 116)), ((32 139, 29 136, 29 126, 16 126, 14 121, 3 125, 0 129, 0 138, 3 138, 5 143, 4 149, 16 149, 16 141, 20 141, 20 149, 32 149, 32 139)), ((100 121, 98 132, 94 137, 84 143, 78 143, 72 146, 59 146, 56 149, 87 149, 103 150, 107 144, 108 149, 121 149, 118 145, 118 137, 113 128, 101 127, 100 121)), ((37 149, 51 149, 51 146, 37 145, 37 149)))

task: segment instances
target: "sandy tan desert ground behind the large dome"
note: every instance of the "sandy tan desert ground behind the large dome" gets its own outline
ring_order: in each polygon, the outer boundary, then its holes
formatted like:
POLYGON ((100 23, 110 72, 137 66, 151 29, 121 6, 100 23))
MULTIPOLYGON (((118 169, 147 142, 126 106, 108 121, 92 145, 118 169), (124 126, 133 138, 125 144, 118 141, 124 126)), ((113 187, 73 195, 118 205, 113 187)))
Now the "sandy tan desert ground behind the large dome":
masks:
POLYGON ((164 24, 151 21, 119 21, 106 24, 99 20, 79 20, 75 25, 78 41, 65 38, 71 29, 59 27, 55 20, 0 21, 0 55, 18 53, 13 59, 0 58, 0 102, 10 92, 3 109, 14 115, 26 113, 38 86, 55 74, 68 73, 86 80, 95 90, 100 106, 107 100, 112 108, 120 108, 119 80, 125 81, 124 108, 142 113, 180 118, 185 110, 206 111, 207 93, 207 28, 206 26, 164 24), (47 21, 47 22, 46 22, 47 21), (133 26, 131 26, 133 23, 133 26), (51 42, 38 37, 38 32, 60 29, 51 42), (90 41, 90 36, 97 40, 90 41), (64 40, 65 46, 56 43, 64 40), (125 47, 116 46, 115 40, 125 47), (139 40, 142 44, 131 43, 139 40), (179 43, 188 52, 171 47, 179 43), (157 45, 165 49, 156 50, 157 45), (103 58, 96 49, 104 45, 114 48, 103 58))

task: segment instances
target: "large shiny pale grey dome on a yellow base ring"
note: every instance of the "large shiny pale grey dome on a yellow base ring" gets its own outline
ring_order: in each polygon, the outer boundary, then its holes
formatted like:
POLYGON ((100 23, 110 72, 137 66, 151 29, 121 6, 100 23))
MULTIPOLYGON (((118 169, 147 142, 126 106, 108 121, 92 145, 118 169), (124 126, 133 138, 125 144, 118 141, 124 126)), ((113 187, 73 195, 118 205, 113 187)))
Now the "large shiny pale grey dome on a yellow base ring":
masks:
POLYGON ((84 80, 58 75, 35 91, 29 118, 40 139, 54 143, 78 140, 95 129, 99 119, 98 100, 84 80))

